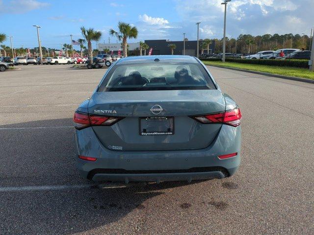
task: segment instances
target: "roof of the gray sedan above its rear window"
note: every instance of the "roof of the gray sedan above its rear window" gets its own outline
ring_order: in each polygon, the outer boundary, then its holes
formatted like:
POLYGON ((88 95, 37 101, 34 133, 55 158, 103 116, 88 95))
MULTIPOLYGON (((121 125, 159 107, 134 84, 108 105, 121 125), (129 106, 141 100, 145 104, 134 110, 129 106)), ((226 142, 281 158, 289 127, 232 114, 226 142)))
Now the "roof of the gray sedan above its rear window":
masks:
POLYGON ((121 58, 116 65, 124 64, 138 64, 138 63, 154 63, 154 60, 158 59, 160 62, 186 62, 186 63, 199 63, 195 57, 189 55, 144 55, 144 56, 130 56, 121 58))

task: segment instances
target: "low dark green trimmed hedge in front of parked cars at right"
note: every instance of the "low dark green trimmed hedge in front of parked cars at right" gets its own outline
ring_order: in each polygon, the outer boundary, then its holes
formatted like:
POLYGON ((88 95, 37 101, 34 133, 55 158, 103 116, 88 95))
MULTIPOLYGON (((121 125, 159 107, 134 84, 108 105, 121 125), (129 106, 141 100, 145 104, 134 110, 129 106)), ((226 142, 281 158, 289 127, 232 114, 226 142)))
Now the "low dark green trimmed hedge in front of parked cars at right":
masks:
MULTIPOLYGON (((208 58, 203 59, 204 61, 221 61, 221 58, 208 58)), ((297 68, 309 68, 308 60, 248 60, 248 59, 233 59, 226 58, 227 62, 236 62, 243 64, 254 64, 254 65, 270 65, 270 66, 288 66, 297 68)))

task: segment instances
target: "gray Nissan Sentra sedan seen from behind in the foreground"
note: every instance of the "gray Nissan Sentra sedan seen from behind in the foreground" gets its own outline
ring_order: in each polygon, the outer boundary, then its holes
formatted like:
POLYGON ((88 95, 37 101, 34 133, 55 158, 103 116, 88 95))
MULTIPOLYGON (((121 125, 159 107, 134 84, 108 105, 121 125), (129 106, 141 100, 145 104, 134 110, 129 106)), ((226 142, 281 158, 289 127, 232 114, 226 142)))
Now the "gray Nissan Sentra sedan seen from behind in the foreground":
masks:
POLYGON ((93 181, 222 179, 240 164, 240 109, 195 57, 118 60, 73 119, 93 181))

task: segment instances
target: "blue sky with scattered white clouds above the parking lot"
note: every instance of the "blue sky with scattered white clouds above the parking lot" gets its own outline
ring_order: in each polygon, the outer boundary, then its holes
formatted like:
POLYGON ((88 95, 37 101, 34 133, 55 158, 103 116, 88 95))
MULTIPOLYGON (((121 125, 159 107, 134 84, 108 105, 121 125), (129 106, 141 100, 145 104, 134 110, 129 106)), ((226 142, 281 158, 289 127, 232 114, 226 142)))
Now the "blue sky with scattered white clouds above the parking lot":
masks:
MULTIPOLYGON (((100 43, 108 43, 109 29, 119 21, 138 29, 138 37, 149 39, 196 40, 222 38, 222 0, 0 0, 0 33, 13 36, 13 47, 37 47, 36 28, 40 25, 42 46, 60 48, 82 38, 80 26, 103 33, 100 43)), ((314 0, 232 0, 227 5, 228 37, 239 34, 305 33, 314 26, 314 0)), ((115 37, 110 37, 116 43, 115 37)), ((4 42, 9 46, 9 40, 4 42)), ((96 44, 93 43, 96 47, 96 44)), ((78 46, 75 46, 75 49, 78 46)), ((77 48, 78 49, 78 48, 77 48)))

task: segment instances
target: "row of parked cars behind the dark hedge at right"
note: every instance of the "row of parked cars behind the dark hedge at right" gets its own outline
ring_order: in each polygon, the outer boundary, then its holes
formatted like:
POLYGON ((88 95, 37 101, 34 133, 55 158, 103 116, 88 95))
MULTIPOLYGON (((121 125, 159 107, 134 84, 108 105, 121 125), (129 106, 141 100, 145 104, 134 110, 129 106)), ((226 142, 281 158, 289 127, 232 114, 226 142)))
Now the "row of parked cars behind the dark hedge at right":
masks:
MULTIPOLYGON (((203 58, 222 58, 222 53, 219 54, 202 54, 203 58)), ((226 58, 233 58, 233 59, 249 59, 249 60, 256 60, 256 59, 305 59, 310 60, 311 58, 311 51, 310 50, 300 50, 295 48, 284 48, 279 50, 263 50, 259 51, 256 54, 248 54, 248 55, 241 55, 235 53, 226 53, 226 58)))

